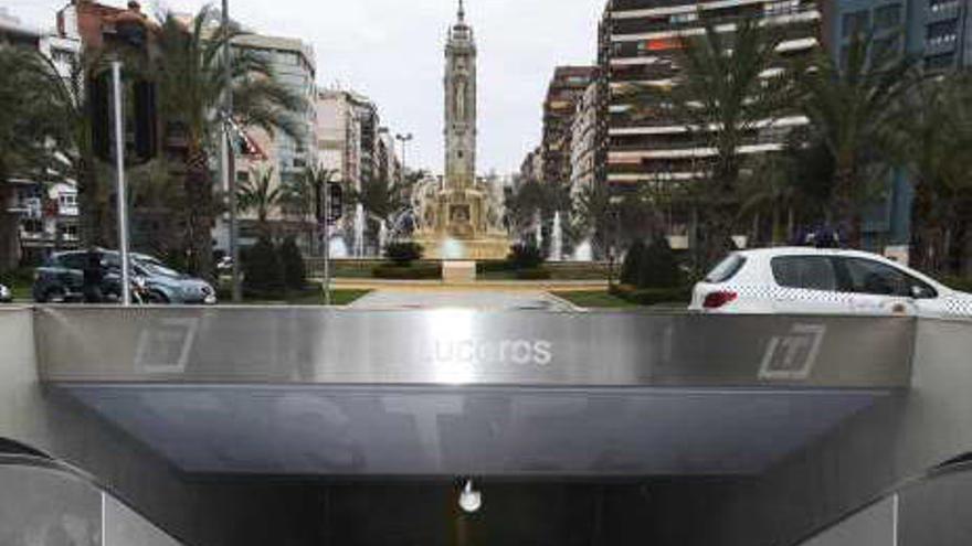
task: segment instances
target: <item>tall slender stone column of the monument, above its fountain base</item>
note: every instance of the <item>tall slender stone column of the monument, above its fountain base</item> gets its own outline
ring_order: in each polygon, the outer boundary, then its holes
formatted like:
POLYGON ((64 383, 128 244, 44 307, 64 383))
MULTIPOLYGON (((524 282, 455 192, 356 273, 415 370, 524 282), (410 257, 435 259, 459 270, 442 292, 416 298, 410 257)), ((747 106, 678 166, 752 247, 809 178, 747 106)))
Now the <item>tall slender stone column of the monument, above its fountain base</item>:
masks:
POLYGON ((445 45, 445 186, 476 183, 476 42, 463 0, 445 45))

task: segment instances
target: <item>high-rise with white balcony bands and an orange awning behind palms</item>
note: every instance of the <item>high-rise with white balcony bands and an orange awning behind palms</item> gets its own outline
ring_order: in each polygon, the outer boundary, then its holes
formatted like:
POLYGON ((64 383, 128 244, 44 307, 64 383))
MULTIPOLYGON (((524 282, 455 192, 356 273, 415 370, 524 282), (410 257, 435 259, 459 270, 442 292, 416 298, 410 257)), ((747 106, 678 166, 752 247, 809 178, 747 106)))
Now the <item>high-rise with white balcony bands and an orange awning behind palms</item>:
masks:
MULTIPOLYGON (((685 36, 702 34, 706 22, 728 33, 741 19, 759 19, 782 29, 785 39, 779 51, 786 55, 818 46, 821 12, 814 0, 608 2, 599 36, 600 138, 606 149, 598 158, 595 172, 612 191, 702 182, 715 151, 689 135, 647 89, 676 85, 685 36)), ((786 135, 780 128, 806 122, 803 117, 776 120, 772 128, 754 131, 739 151, 750 157, 776 152, 786 135)), ((676 203, 666 212, 669 235, 677 236, 674 240, 688 240, 693 217, 687 203, 676 203)))

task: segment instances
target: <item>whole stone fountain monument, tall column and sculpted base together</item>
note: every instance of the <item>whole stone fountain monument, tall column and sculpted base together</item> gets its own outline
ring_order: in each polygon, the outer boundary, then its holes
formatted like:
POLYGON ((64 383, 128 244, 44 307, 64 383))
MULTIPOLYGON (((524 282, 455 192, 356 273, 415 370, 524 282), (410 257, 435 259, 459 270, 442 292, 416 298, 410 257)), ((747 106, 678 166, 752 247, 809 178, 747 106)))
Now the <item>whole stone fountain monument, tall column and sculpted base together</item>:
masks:
POLYGON ((445 175, 415 189, 414 240, 433 259, 501 259, 510 244, 501 197, 476 179, 476 42, 462 0, 445 57, 445 175))

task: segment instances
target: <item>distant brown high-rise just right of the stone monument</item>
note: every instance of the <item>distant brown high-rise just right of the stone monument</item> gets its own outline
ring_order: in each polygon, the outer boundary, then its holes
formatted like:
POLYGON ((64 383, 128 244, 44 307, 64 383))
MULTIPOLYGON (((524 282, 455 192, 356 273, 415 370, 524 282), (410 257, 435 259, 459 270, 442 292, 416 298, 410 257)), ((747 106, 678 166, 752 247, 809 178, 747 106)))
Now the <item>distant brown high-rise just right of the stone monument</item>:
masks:
POLYGON ((594 82, 593 66, 558 66, 543 101, 543 181, 567 185, 571 181, 571 141, 577 105, 594 82))

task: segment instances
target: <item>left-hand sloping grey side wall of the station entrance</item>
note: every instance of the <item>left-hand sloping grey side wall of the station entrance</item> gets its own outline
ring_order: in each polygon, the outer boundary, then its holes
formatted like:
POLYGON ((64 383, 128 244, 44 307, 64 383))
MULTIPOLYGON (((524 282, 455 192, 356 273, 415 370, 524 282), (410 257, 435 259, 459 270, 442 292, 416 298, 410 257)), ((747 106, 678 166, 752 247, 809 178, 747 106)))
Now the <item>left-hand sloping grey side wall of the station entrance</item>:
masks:
POLYGON ((316 490, 299 482, 190 480, 38 379, 29 309, 0 309, 0 438, 53 456, 188 546, 314 544, 316 490), (308 524, 309 523, 309 524, 308 524))

